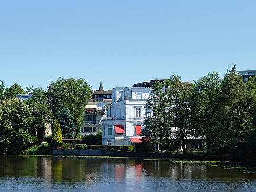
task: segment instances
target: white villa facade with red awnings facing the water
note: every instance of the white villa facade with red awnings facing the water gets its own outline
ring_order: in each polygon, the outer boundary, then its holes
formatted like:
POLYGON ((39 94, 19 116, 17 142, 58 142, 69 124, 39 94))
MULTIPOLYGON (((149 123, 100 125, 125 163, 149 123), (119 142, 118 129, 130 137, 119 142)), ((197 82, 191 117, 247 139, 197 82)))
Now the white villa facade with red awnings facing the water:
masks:
POLYGON ((102 145, 131 145, 131 139, 142 138, 138 130, 143 129, 150 90, 147 87, 112 89, 112 106, 102 118, 102 145))

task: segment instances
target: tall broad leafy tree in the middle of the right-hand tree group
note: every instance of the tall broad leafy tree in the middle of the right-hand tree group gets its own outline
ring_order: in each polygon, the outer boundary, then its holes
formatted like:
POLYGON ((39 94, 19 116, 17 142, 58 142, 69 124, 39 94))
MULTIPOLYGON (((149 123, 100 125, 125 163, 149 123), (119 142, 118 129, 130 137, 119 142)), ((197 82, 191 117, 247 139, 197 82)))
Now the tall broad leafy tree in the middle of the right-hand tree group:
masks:
POLYGON ((206 138, 208 153, 221 145, 222 130, 218 127, 222 112, 222 80, 212 72, 195 82, 191 97, 192 125, 198 136, 206 138))

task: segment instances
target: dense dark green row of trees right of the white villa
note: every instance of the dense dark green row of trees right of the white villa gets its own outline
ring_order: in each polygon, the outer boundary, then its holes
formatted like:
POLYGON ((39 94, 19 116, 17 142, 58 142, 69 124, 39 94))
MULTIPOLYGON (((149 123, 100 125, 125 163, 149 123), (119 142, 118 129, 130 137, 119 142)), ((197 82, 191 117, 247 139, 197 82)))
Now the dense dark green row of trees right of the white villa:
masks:
POLYGON ((223 79, 215 72, 194 84, 182 83, 180 79, 172 75, 170 80, 153 85, 142 131, 143 143, 147 147, 159 144, 166 151, 180 144, 185 153, 185 140, 201 138, 208 154, 235 155, 243 149, 253 157, 256 77, 244 83, 234 66, 223 79))

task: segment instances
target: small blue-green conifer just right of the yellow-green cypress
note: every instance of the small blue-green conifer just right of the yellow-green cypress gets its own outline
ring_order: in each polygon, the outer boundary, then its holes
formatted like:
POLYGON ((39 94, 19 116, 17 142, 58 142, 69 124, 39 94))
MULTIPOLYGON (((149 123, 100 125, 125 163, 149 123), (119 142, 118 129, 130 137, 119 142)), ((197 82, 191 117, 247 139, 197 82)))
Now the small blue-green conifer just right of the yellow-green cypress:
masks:
POLYGON ((55 115, 60 122, 62 138, 73 139, 76 135, 76 129, 73 123, 73 116, 68 112, 68 109, 62 107, 55 115))

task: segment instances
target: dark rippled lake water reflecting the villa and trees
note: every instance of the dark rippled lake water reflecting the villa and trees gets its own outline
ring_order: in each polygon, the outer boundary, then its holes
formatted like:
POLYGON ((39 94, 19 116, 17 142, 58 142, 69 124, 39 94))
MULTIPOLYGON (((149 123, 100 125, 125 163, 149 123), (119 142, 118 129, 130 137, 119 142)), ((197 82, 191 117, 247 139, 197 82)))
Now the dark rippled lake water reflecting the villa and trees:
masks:
POLYGON ((1 191, 256 191, 256 173, 209 162, 0 156, 1 191))

